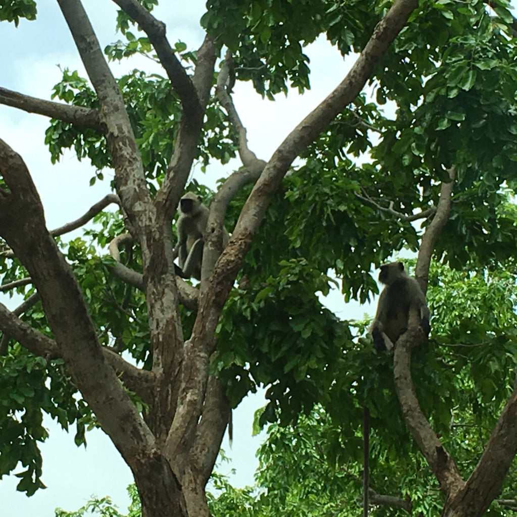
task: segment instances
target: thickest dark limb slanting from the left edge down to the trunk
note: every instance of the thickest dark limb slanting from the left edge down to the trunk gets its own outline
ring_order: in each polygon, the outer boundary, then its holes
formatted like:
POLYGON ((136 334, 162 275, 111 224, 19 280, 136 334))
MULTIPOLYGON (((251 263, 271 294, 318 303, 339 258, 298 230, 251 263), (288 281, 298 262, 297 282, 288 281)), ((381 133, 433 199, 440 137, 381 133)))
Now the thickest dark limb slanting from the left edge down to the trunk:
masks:
MULTIPOLYGON (((0 197, 0 234, 34 281, 74 384, 126 462, 134 465, 135 455, 155 447, 154 436, 104 358, 77 279, 45 227, 41 200, 25 163, 2 140, 0 170, 9 189, 0 197)), ((16 330, 6 328, 12 336, 16 330)), ((34 330, 25 332, 36 341, 34 330)), ((39 340, 44 345, 45 339, 39 340)))

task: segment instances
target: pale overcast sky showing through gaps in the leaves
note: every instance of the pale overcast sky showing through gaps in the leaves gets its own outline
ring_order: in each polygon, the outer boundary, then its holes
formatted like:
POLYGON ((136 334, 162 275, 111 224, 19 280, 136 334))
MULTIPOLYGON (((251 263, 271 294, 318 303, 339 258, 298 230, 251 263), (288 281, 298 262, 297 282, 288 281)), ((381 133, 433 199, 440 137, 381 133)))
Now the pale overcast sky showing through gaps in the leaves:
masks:
MULTIPOLYGON (((114 33, 115 7, 109 0, 84 0, 84 5, 94 26, 101 47, 119 39, 114 33)), ((181 40, 189 49, 200 46, 204 33, 199 19, 204 12, 204 2, 163 2, 166 7, 156 10, 157 18, 166 23, 169 41, 181 40)), ((22 20, 18 28, 7 22, 0 23, 0 86, 42 99, 50 99, 51 89, 60 81, 58 68, 77 69, 86 77, 73 40, 57 3, 38 2, 35 22, 22 20)), ((237 83, 234 101, 243 124, 248 129, 250 148, 259 158, 268 160, 287 134, 316 107, 344 78, 348 63, 325 40, 311 45, 306 52, 310 59, 312 90, 303 97, 292 94, 276 102, 263 101, 248 84, 237 83)), ((130 63, 112 64, 116 77, 133 68, 148 69, 149 60, 135 58, 130 63)), ((156 70, 154 70, 156 71, 156 70)), ((165 75, 164 72, 160 72, 165 75)), ((95 202, 109 193, 109 181, 88 186, 93 170, 87 162, 78 162, 68 153, 56 165, 43 144, 48 119, 0 105, 0 138, 16 150, 27 163, 41 196, 49 229, 78 218, 95 202)), ((236 168, 234 165, 233 168, 236 168)), ((212 166, 206 177, 194 174, 200 181, 214 185, 221 176, 229 175, 232 166, 212 166)), ((109 178, 108 171, 104 176, 109 178)), ((7 296, 0 301, 13 308, 7 296)), ((329 307, 340 317, 360 317, 363 309, 353 312, 344 307, 339 291, 330 295, 329 307)), ((251 484, 257 466, 255 451, 261 437, 251 436, 252 416, 255 409, 265 404, 263 392, 243 401, 234 412, 234 444, 230 450, 226 438, 223 448, 233 458, 231 466, 224 464, 220 472, 236 469, 232 483, 237 486, 251 484)), ((87 434, 88 447, 77 448, 70 434, 60 430, 50 419, 45 420, 50 438, 41 445, 43 454, 43 482, 46 490, 27 498, 16 492, 18 478, 4 477, 0 481, 0 500, 10 517, 26 515, 53 516, 55 507, 75 510, 93 494, 110 495, 115 504, 125 511, 128 504, 126 486, 132 482, 129 468, 111 441, 101 431, 87 434)), ((21 470, 21 467, 18 469, 21 470)), ((17 470, 14 471, 15 473, 17 470)))

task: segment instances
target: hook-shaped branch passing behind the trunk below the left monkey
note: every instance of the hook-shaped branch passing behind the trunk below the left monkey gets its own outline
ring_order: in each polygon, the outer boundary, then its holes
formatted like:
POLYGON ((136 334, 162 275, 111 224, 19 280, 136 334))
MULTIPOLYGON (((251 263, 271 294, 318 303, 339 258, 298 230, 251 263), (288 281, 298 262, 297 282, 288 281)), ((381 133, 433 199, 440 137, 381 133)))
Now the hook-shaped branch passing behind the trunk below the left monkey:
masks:
MULTIPOLYGON (((108 246, 108 251, 112 258, 115 260, 115 265, 111 266, 110 272, 112 275, 126 284, 136 287, 140 291, 145 291, 144 277, 142 273, 134 271, 124 264, 120 263, 120 251, 119 247, 125 244, 132 244, 133 237, 128 233, 123 233, 115 237, 108 246)), ((178 286, 179 301, 189 309, 197 308, 197 298, 199 298, 199 292, 195 287, 188 284, 184 280, 176 278, 178 286)))

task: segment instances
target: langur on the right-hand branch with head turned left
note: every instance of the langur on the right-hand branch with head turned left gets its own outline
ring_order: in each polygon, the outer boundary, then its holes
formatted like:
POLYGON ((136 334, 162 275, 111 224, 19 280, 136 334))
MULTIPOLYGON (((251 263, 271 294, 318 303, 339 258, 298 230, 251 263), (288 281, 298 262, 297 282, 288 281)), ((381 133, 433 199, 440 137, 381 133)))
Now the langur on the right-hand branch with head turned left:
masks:
POLYGON ((420 326, 429 335, 429 308, 425 296, 414 278, 404 271, 402 262, 381 266, 379 282, 385 285, 377 303, 377 313, 371 333, 377 352, 391 351, 393 345, 407 330, 409 309, 416 309, 420 326))

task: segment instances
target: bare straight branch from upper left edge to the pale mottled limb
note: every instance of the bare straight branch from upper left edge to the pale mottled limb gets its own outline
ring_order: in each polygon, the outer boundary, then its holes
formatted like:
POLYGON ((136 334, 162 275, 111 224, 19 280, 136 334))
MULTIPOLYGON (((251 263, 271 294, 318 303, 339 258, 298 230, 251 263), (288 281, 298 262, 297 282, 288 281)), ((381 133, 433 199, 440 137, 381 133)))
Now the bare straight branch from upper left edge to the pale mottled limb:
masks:
POLYGON ((106 129, 101 123, 97 110, 37 99, 29 95, 12 92, 7 88, 0 88, 0 104, 19 108, 28 113, 37 113, 39 115, 56 118, 64 122, 69 122, 70 124, 92 128, 99 133, 104 133, 106 129))

